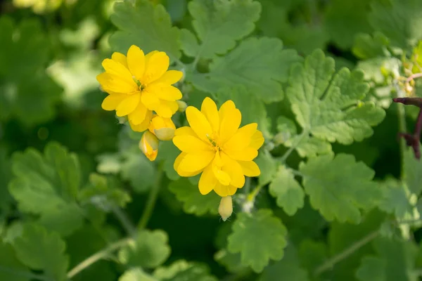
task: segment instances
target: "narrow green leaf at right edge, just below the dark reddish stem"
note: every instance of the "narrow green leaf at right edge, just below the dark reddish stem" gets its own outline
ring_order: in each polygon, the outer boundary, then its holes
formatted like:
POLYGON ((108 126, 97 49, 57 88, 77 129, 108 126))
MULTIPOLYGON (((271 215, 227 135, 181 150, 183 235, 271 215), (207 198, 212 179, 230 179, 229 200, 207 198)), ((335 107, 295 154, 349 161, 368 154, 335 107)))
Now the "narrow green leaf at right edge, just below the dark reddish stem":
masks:
POLYGON ((422 191, 422 163, 415 158, 411 148, 404 152, 403 160, 404 183, 409 190, 419 195, 422 191))

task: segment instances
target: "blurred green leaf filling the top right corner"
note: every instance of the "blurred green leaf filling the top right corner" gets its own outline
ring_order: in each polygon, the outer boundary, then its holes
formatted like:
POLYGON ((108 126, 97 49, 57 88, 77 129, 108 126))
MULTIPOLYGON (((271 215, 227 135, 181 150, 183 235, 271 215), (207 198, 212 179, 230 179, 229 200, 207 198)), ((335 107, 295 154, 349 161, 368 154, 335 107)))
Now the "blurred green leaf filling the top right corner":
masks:
POLYGON ((383 33, 392 46, 416 46, 422 39, 422 6, 418 0, 373 1, 369 22, 383 33))

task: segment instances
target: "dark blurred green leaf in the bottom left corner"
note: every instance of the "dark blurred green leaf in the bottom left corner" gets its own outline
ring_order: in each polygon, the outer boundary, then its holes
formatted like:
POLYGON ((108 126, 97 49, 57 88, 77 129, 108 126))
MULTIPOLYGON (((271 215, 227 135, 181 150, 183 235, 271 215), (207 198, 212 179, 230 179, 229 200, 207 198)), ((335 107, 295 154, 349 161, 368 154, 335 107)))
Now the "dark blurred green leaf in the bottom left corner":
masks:
POLYGON ((0 240, 0 280, 30 281, 28 274, 30 270, 16 259, 13 247, 0 240))

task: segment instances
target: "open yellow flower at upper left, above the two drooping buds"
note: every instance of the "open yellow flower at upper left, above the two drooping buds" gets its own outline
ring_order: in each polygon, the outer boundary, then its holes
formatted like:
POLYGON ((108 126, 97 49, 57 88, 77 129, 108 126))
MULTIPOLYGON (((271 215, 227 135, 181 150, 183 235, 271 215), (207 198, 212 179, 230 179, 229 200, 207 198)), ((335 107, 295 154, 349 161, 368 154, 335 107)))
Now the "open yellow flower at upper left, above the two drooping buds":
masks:
POLYGON ((101 87, 109 95, 103 100, 104 110, 116 110, 118 117, 128 117, 134 131, 145 131, 153 111, 160 117, 170 118, 177 112, 181 92, 172 84, 183 75, 167 70, 170 59, 164 52, 152 51, 147 55, 132 45, 127 56, 113 53, 103 60, 106 72, 97 76, 101 87))

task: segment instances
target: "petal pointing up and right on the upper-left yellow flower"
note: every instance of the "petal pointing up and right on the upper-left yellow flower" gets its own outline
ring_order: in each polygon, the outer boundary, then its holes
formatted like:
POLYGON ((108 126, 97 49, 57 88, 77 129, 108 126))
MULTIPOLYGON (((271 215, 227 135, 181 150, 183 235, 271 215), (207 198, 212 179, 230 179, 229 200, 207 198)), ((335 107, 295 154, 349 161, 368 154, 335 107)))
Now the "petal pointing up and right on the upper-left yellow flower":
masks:
POLYGON ((162 77, 169 68, 169 65, 170 58, 166 53, 153 53, 153 55, 149 56, 148 60, 146 60, 145 73, 143 74, 142 79, 140 79, 141 84, 150 84, 162 77))

